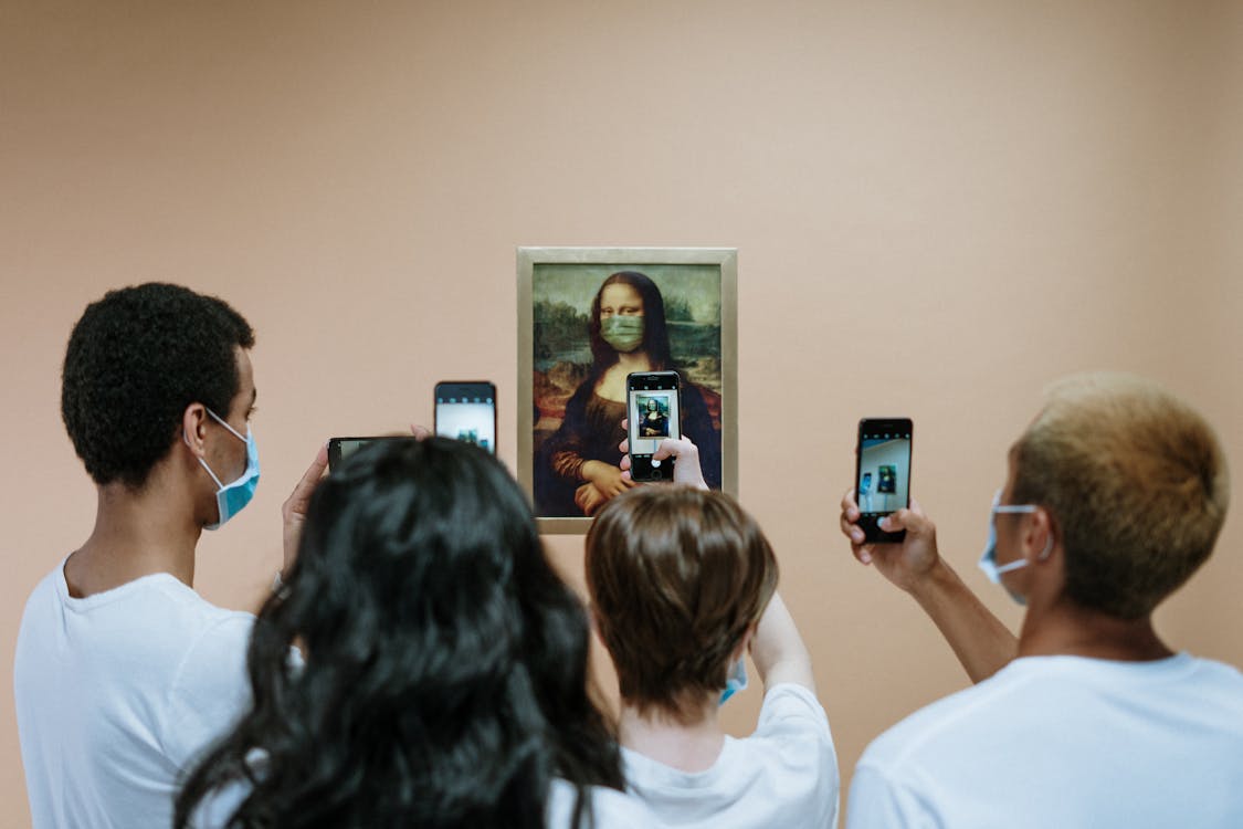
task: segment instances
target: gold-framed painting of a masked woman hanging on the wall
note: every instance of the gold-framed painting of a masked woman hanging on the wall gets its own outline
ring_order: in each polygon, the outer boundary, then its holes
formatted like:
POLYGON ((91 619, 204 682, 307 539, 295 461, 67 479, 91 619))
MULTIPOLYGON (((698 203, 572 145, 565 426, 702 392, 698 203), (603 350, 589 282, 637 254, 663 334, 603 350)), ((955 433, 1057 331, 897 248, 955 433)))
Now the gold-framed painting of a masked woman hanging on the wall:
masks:
POLYGON ((585 533, 620 477, 625 377, 676 370, 681 428, 737 493, 737 251, 518 249, 518 480, 544 533, 585 533))

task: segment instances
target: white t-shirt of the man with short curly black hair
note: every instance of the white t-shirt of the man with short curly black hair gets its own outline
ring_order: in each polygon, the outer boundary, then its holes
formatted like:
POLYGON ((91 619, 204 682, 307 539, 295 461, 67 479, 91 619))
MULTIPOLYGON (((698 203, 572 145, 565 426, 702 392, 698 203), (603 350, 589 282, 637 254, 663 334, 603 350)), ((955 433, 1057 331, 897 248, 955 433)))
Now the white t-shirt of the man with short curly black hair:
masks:
POLYGON ((168 829, 179 772, 250 702, 255 618, 160 573, 85 599, 31 593, 14 691, 35 829, 168 829))

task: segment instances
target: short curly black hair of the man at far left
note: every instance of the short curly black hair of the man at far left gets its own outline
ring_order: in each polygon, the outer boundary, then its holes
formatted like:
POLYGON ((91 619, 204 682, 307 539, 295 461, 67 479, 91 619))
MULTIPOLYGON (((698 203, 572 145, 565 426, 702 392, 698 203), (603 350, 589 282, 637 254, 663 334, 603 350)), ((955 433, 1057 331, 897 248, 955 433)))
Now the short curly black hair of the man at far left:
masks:
POLYGON ((216 297, 148 282, 92 302, 70 334, 61 416, 96 483, 145 483, 203 403, 220 416, 237 394, 234 350, 255 332, 216 297))

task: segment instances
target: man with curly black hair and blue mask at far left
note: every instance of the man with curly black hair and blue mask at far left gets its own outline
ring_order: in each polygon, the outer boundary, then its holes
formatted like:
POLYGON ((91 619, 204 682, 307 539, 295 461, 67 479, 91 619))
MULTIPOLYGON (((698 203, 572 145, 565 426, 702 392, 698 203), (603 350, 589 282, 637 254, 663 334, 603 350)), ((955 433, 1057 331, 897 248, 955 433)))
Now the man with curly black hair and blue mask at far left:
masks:
POLYGON ((254 343, 221 300, 163 283, 112 291, 73 328, 61 410, 98 501, 94 529, 35 588, 17 639, 36 828, 170 825, 179 773, 249 701, 254 616, 193 583, 203 529, 259 480, 254 343))

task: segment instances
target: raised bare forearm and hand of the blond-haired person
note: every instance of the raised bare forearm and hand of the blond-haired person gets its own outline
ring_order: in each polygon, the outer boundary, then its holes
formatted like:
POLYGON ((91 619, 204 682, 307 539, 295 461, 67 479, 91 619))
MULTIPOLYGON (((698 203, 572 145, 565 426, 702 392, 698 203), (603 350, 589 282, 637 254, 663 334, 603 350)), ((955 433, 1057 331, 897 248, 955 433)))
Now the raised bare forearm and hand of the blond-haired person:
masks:
POLYGON ((842 532, 850 539, 850 551, 919 602, 972 682, 988 679, 1014 659, 1018 654, 1014 634, 941 558, 936 526, 919 503, 912 500, 909 510, 899 510, 883 522, 885 531, 906 531, 900 544, 864 543, 858 522, 859 507, 850 490, 842 498, 842 532))

